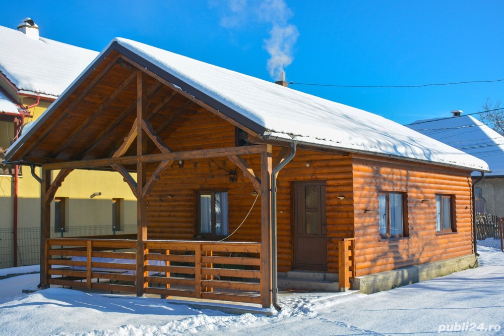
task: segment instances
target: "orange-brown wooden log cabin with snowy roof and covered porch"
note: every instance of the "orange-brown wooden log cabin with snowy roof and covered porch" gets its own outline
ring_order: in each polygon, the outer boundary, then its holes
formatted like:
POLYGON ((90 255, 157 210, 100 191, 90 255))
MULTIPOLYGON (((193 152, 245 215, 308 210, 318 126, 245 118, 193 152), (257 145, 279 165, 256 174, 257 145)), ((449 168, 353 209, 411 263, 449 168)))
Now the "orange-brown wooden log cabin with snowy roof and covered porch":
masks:
POLYGON ((120 38, 6 160, 42 167, 42 287, 263 307, 277 272, 337 273, 344 290, 473 254, 471 172, 488 171, 366 111, 120 38), (122 175, 136 236, 50 238, 75 169, 122 175))

